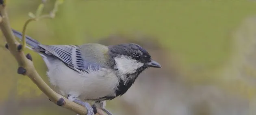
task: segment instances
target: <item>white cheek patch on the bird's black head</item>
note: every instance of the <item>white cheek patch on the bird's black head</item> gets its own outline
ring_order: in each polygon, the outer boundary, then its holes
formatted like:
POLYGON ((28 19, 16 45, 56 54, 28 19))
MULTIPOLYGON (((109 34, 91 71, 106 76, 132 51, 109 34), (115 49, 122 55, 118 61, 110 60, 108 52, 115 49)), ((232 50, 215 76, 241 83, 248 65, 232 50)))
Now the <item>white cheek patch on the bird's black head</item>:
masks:
POLYGON ((135 73, 138 68, 144 65, 143 63, 133 60, 128 56, 116 57, 115 62, 117 64, 116 68, 123 74, 135 73))

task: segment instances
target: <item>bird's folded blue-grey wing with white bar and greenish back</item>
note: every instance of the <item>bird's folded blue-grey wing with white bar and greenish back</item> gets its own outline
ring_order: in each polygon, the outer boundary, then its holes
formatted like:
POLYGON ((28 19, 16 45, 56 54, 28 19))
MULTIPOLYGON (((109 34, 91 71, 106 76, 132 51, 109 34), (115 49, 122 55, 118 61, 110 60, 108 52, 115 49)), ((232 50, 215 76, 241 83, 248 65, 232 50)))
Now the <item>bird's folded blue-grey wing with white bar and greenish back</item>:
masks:
POLYGON ((95 44, 85 44, 82 46, 74 45, 42 45, 39 44, 41 48, 45 50, 45 54, 53 55, 59 60, 61 60, 69 68, 77 71, 78 73, 88 73, 89 71, 98 71, 100 68, 104 68, 104 61, 100 60, 99 50, 93 52, 94 48, 104 49, 104 52, 107 51, 107 48, 104 48, 102 45, 95 44), (82 52, 81 52, 82 50, 82 52))

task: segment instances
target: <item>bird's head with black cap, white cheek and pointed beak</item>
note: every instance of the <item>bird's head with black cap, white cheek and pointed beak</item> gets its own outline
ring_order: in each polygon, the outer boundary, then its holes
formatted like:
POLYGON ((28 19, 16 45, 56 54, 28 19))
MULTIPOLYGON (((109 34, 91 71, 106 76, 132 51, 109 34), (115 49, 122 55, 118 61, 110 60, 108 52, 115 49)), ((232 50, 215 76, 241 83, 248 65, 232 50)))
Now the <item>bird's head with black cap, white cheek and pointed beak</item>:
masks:
POLYGON ((151 59, 150 54, 141 46, 134 43, 108 46, 109 55, 115 61, 114 69, 121 74, 137 74, 149 67, 161 67, 151 59))

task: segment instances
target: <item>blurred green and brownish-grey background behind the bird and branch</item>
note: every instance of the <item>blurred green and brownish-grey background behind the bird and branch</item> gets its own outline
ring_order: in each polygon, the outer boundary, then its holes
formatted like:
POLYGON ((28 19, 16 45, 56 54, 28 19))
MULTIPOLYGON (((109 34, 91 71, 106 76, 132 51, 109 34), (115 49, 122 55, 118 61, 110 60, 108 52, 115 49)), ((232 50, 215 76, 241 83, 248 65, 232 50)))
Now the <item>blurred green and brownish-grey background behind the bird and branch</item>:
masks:
MULTIPOLYGON (((7 1, 19 31, 41 3, 7 1)), ((54 2, 48 0, 43 13, 54 2)), ((256 115, 255 0, 64 0, 54 19, 30 23, 27 35, 43 44, 146 48, 163 68, 147 69, 124 96, 107 101, 114 115, 256 115)), ((76 115, 17 75, 1 38, 0 115, 76 115)), ((25 52, 49 84, 41 57, 25 52)))

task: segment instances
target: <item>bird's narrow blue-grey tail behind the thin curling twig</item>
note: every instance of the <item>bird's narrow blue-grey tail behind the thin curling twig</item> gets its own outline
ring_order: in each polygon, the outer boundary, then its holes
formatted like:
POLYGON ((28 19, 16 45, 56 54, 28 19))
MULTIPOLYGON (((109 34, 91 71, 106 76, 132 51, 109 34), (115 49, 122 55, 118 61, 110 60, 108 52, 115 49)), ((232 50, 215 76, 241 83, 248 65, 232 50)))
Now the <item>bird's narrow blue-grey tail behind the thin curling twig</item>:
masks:
MULTIPOLYGON (((22 33, 20 33, 19 31, 16 31, 15 29, 12 29, 13 30, 13 33, 14 35, 17 37, 17 38, 20 38, 20 40, 22 40, 22 33)), ((31 46, 32 48, 39 48, 39 42, 33 38, 30 38, 29 36, 25 36, 26 37, 26 43, 31 46)))

